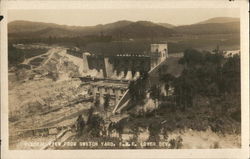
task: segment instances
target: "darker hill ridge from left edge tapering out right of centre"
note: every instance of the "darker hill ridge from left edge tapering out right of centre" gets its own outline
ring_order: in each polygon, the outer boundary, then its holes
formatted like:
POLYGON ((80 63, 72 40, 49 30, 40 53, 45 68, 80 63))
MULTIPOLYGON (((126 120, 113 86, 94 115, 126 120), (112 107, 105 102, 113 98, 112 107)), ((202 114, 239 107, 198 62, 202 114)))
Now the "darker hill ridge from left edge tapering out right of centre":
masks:
POLYGON ((104 35, 125 38, 149 38, 155 36, 169 36, 173 30, 152 22, 118 21, 105 25, 88 27, 66 26, 51 23, 13 21, 8 24, 10 37, 19 38, 48 38, 48 37, 76 37, 88 35, 104 35), (153 35, 152 35, 153 34, 153 35))

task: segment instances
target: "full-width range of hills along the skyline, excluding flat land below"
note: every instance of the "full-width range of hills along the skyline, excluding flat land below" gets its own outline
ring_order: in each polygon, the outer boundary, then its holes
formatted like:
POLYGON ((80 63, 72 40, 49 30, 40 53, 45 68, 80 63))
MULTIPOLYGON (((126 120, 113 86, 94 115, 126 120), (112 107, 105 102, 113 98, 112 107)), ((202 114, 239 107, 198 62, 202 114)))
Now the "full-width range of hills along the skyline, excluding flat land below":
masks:
POLYGON ((167 38, 177 34, 233 34, 240 32, 238 18, 212 18, 200 23, 174 26, 150 21, 117 21, 96 26, 68 26, 53 23, 13 21, 8 24, 9 38, 72 38, 109 36, 113 39, 167 38))

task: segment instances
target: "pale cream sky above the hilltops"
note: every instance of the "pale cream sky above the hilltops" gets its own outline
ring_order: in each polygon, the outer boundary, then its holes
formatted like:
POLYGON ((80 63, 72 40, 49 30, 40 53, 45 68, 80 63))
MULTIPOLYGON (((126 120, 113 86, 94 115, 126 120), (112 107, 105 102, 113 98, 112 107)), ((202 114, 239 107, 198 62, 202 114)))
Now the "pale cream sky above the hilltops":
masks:
POLYGON ((9 10, 8 22, 28 20, 62 25, 93 26, 118 20, 152 21, 188 25, 214 17, 240 17, 232 8, 168 8, 168 9, 84 9, 84 10, 9 10))

